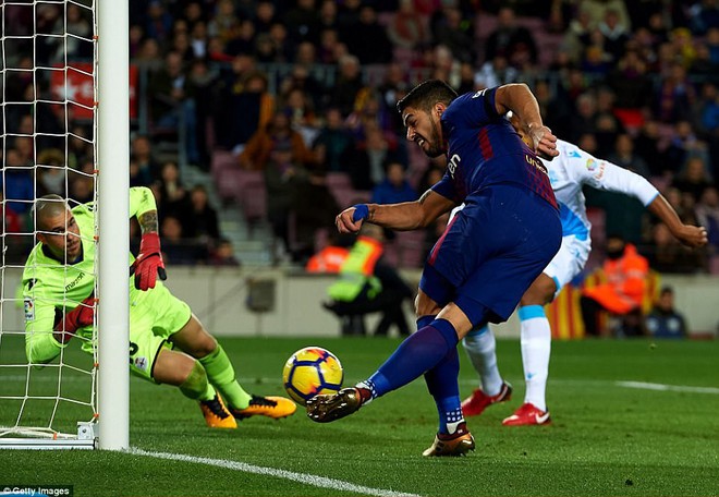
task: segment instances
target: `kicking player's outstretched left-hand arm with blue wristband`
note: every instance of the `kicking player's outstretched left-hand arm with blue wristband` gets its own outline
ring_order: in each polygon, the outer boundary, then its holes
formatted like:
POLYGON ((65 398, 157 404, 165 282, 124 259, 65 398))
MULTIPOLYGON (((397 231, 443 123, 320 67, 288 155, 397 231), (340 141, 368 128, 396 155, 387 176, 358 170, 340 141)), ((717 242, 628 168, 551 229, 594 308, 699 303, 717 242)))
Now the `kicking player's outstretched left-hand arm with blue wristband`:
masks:
POLYGON ((358 204, 341 211, 336 218, 340 233, 356 233, 366 220, 398 231, 426 228, 452 209, 453 201, 428 190, 419 199, 401 204, 358 204))

